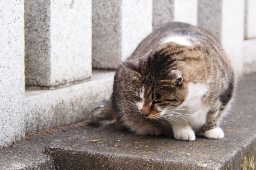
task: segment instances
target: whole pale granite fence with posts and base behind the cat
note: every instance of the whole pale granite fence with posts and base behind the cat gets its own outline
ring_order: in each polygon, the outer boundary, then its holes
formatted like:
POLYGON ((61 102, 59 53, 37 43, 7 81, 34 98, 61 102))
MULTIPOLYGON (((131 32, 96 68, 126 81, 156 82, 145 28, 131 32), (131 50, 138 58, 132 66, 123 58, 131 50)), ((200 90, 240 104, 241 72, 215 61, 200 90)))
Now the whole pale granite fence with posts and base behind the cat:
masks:
POLYGON ((255 8, 254 0, 0 0, 0 147, 86 120, 111 95, 106 69, 170 21, 212 33, 239 76, 256 71, 255 8))

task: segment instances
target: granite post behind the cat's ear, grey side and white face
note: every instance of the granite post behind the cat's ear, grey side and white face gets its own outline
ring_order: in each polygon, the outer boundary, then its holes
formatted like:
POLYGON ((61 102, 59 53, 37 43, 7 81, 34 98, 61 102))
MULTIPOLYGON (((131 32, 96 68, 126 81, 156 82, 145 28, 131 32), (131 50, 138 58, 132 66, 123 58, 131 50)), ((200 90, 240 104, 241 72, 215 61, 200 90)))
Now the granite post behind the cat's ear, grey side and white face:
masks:
POLYGON ((152 0, 93 0, 94 68, 118 68, 152 31, 152 0))

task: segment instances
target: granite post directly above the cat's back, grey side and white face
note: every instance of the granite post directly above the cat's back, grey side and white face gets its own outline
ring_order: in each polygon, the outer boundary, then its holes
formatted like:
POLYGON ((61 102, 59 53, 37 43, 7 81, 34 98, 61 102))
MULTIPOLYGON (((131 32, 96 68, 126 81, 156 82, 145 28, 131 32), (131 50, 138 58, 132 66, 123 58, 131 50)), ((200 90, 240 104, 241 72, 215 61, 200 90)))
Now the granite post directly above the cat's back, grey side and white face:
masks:
POLYGON ((153 29, 171 21, 197 26, 197 0, 153 0, 153 29))

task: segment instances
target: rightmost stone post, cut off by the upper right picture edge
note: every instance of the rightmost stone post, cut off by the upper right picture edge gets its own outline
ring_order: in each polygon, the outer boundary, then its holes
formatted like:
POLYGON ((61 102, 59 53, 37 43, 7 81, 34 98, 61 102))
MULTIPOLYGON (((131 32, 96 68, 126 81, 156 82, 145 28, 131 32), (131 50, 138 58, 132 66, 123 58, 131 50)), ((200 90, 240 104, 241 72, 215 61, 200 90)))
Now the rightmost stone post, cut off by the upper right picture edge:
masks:
POLYGON ((244 38, 256 38, 256 0, 245 0, 244 38))

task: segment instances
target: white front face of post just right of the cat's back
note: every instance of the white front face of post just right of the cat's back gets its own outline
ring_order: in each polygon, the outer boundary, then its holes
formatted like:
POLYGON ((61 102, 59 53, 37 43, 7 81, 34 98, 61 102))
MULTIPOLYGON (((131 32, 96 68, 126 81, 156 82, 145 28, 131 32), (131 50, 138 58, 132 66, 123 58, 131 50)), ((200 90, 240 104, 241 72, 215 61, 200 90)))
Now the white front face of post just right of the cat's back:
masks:
POLYGON ((223 1, 221 45, 238 75, 243 70, 244 0, 223 1), (237 10, 239 9, 239 10, 237 10))

